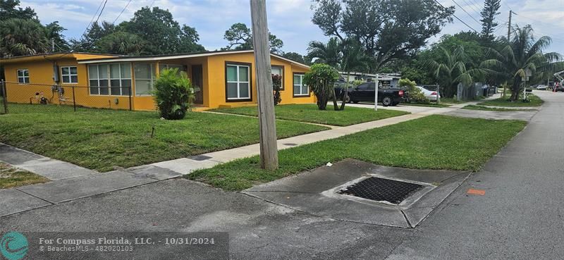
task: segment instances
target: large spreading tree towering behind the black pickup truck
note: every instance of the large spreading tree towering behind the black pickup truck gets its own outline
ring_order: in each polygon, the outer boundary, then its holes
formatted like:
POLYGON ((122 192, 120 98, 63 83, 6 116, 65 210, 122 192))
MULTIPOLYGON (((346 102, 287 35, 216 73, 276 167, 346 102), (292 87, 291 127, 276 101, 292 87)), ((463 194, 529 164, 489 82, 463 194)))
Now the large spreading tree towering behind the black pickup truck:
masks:
POLYGON ((325 35, 360 42, 374 59, 372 71, 415 54, 455 11, 434 0, 315 0, 312 9, 312 22, 325 35))

